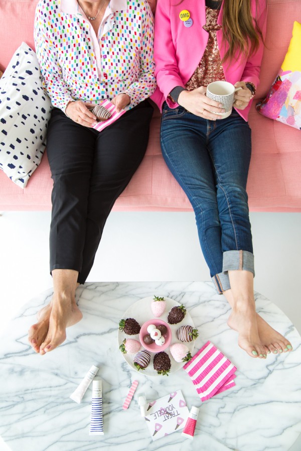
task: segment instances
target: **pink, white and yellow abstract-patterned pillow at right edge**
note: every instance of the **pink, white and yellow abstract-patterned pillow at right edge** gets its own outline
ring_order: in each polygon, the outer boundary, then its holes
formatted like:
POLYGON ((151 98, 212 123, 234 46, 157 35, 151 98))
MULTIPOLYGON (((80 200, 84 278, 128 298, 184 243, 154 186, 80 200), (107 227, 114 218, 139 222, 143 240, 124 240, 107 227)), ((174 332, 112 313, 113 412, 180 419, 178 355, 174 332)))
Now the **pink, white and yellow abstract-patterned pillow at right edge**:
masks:
POLYGON ((294 22, 292 38, 266 98, 256 109, 263 116, 301 130, 301 24, 294 22))

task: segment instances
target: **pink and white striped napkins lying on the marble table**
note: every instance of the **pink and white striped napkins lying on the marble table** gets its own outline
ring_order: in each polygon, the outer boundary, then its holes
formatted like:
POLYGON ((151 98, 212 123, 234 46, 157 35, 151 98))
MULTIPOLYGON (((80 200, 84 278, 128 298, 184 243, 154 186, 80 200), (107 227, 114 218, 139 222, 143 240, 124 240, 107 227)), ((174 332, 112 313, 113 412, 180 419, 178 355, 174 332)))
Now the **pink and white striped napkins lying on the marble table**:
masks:
POLYGON ((202 401, 235 385, 236 367, 208 341, 183 367, 202 401))

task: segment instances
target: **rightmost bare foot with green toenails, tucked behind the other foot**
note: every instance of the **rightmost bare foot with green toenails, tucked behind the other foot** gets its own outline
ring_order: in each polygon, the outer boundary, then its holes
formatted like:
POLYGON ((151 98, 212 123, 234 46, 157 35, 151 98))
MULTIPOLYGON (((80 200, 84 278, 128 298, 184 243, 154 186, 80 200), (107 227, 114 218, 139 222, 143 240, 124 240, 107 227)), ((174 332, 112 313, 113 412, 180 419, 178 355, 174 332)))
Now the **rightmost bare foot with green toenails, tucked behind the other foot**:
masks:
POLYGON ((266 352, 268 354, 292 351, 290 342, 269 324, 267 324, 267 322, 264 321, 258 313, 256 313, 256 320, 260 341, 266 347, 266 352))

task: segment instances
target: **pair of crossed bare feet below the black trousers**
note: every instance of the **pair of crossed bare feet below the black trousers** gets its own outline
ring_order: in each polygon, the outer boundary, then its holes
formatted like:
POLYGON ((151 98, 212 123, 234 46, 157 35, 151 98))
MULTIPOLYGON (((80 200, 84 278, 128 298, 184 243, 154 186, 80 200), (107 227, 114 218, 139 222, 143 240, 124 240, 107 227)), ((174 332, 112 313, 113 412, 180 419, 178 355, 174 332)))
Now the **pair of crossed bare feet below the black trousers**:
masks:
POLYGON ((75 300, 51 302, 38 313, 38 322, 29 329, 28 339, 33 349, 44 355, 66 339, 66 328, 82 319, 75 300))

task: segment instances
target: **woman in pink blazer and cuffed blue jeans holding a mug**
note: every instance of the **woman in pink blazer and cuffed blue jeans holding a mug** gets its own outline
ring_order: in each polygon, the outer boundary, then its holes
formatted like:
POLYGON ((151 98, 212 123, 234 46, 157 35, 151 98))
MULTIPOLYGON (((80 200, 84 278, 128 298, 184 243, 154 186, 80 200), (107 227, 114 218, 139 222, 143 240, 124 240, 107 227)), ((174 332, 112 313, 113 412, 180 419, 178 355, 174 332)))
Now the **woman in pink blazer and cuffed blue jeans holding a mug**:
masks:
POLYGON ((232 307, 229 326, 251 357, 291 344, 255 311, 254 256, 247 175, 251 99, 259 82, 266 0, 158 0, 152 98, 162 115, 165 161, 196 215, 200 244, 216 290, 232 307), (206 96, 209 83, 241 89, 231 114, 206 96))

